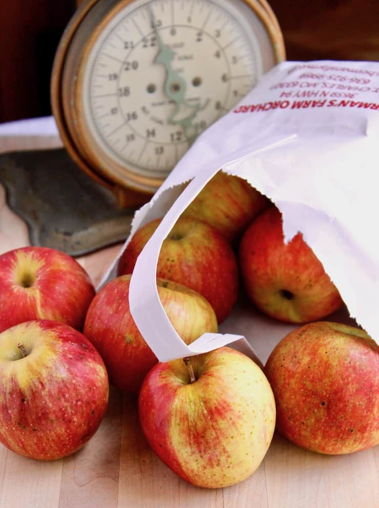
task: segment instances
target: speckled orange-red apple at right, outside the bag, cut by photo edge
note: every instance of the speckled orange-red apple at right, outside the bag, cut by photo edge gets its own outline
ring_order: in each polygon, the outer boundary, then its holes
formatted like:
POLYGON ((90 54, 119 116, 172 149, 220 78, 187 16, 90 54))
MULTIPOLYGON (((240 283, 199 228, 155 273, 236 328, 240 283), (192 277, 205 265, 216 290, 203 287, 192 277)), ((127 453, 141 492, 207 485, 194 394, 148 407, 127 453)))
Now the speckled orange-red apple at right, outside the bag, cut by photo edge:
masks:
POLYGON ((273 349, 265 373, 277 429, 294 443, 326 454, 379 444, 379 346, 365 331, 304 325, 273 349))

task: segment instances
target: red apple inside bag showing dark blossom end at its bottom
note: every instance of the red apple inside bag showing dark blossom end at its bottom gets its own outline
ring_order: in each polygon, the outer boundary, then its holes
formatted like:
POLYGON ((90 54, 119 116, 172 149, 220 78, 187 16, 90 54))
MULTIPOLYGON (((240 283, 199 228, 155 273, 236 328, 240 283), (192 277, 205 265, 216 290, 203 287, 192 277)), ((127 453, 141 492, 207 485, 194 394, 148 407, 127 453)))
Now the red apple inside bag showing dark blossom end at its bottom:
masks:
POLYGON ((317 321, 343 304, 338 289, 302 234, 284 243, 282 215, 275 206, 245 230, 239 265, 252 302, 278 320, 317 321))

